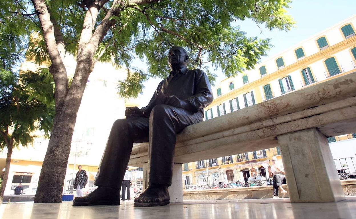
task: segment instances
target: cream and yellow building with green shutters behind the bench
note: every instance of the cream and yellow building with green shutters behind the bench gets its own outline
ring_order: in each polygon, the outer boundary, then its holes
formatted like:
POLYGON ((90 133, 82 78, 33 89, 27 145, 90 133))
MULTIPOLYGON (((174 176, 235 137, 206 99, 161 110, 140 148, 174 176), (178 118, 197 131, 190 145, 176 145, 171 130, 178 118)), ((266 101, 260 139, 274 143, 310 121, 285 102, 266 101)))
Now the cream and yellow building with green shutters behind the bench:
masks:
MULTIPOLYGON (((352 16, 255 65, 255 69, 243 75, 224 79, 213 87, 214 101, 205 108, 205 120, 354 72, 355 27, 356 16, 352 16)), ((355 137, 356 134, 349 134, 328 141, 355 137)), ((185 185, 211 185, 248 181, 248 177, 257 175, 268 178, 261 164, 269 163, 272 156, 281 162, 279 149, 272 148, 183 164, 183 181, 185 185)))

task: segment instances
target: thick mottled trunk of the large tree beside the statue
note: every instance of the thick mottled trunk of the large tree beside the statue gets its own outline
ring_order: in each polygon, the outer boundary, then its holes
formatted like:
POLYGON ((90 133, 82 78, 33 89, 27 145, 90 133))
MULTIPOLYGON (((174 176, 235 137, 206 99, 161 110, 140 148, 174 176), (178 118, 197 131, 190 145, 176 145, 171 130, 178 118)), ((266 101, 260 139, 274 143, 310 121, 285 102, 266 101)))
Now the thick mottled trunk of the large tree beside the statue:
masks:
POLYGON ((63 182, 66 177, 70 143, 72 141, 77 113, 82 101, 85 84, 89 77, 91 57, 78 60, 72 85, 66 99, 56 108, 51 137, 38 180, 35 203, 62 202, 63 182), (89 62, 83 66, 83 62, 89 62), (76 76, 78 75, 78 76, 76 76))

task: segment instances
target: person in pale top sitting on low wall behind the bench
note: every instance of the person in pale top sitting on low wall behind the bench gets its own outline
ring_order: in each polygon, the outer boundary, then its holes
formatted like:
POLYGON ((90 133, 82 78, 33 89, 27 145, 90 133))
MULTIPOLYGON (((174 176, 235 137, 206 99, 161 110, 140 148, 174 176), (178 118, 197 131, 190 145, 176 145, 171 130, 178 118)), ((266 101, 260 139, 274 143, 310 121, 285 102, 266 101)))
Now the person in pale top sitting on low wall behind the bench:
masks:
POLYGON ((272 165, 268 165, 269 176, 273 177, 273 199, 279 198, 278 192, 280 189, 281 193, 287 193, 286 190, 282 187, 282 184, 286 184, 286 175, 284 173, 283 164, 277 163, 277 158, 272 157, 272 165))

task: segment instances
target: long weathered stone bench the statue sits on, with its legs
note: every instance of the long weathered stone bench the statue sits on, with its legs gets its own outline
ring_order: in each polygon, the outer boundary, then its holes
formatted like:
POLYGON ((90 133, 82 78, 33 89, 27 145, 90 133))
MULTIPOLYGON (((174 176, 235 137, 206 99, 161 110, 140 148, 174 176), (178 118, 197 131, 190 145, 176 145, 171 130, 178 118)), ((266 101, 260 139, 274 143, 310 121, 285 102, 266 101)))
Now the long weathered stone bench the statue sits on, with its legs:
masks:
MULTIPOLYGON (((344 199, 327 137, 356 132, 356 74, 317 82, 186 127, 177 136, 171 202, 182 202, 182 163, 279 146, 291 202, 344 199)), ((148 143, 133 147, 130 166, 148 182, 148 143)))

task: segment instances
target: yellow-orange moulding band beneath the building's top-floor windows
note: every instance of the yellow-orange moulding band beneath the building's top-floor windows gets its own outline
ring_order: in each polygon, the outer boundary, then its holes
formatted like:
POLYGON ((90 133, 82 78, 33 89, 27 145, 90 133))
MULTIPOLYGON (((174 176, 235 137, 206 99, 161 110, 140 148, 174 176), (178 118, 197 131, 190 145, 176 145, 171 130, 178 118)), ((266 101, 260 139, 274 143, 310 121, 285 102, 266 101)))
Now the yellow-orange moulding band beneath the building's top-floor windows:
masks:
POLYGON ((287 75, 290 72, 300 69, 300 67, 302 67, 302 66, 308 66, 313 62, 324 59, 326 56, 328 56, 330 54, 334 54, 334 53, 337 53, 344 49, 347 49, 352 45, 356 45, 356 36, 350 37, 349 39, 345 39, 345 40, 341 41, 340 43, 330 46, 327 49, 321 50, 318 53, 315 53, 315 54, 310 55, 302 60, 294 62, 293 64, 288 65, 288 66, 284 67, 283 69, 280 69, 280 70, 275 71, 271 74, 268 74, 267 76, 262 77, 258 80, 252 81, 251 83, 248 83, 245 86, 239 87, 239 88, 235 89, 234 91, 231 91, 227 94, 221 95, 220 97, 214 99, 213 102, 206 108, 208 109, 211 105, 219 104, 219 103, 225 101, 226 99, 236 98, 236 96, 238 94, 241 94, 244 91, 252 90, 253 88, 261 86, 261 84, 267 84, 268 82, 270 82, 274 79, 280 78, 284 75, 287 75))

